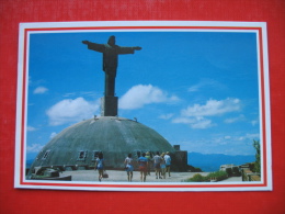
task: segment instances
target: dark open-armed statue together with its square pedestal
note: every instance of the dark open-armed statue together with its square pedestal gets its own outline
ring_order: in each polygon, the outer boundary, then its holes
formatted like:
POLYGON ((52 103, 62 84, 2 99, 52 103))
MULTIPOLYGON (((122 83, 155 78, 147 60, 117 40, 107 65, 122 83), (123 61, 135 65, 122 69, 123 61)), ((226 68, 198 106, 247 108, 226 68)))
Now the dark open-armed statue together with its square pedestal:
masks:
POLYGON ((103 54, 103 71, 105 72, 105 93, 102 98, 101 115, 117 115, 117 97, 115 97, 115 78, 117 71, 117 56, 121 54, 134 54, 141 47, 123 47, 116 45, 115 36, 110 36, 107 44, 91 43, 82 41, 89 49, 103 54))

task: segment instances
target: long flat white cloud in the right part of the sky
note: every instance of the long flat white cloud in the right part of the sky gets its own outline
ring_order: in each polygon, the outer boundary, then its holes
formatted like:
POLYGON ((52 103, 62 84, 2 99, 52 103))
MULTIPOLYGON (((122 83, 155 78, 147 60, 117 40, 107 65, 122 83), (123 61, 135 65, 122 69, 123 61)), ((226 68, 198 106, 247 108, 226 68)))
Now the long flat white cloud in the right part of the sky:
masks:
POLYGON ((226 100, 208 100, 205 105, 194 104, 181 111, 183 116, 215 116, 228 112, 239 111, 241 103, 239 99, 228 98, 226 100))

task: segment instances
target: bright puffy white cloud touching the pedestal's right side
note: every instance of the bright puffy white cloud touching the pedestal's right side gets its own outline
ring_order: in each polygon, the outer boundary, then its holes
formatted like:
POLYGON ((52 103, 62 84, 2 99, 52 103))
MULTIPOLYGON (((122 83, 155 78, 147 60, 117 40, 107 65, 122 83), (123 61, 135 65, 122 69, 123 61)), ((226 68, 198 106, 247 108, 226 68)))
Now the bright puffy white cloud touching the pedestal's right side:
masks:
POLYGON ((169 95, 158 87, 137 85, 130 88, 118 101, 118 106, 125 110, 142 108, 145 104, 176 102, 179 98, 169 95))

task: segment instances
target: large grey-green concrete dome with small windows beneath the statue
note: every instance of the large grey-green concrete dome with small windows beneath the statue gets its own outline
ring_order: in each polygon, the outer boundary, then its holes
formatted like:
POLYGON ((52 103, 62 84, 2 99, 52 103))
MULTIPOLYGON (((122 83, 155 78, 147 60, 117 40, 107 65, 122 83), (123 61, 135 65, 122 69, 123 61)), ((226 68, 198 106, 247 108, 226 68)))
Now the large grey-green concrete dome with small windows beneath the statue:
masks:
MULTIPOLYGON (((94 167, 95 159, 103 153, 105 167, 123 169, 125 157, 133 154, 136 160, 142 153, 169 151, 172 170, 186 170, 186 153, 179 146, 172 147, 155 129, 137 122, 117 116, 100 116, 82 121, 57 134, 37 155, 35 167, 59 167, 86 169, 94 167)), ((31 171, 32 171, 31 170, 31 171)))

